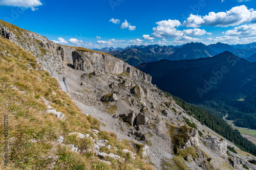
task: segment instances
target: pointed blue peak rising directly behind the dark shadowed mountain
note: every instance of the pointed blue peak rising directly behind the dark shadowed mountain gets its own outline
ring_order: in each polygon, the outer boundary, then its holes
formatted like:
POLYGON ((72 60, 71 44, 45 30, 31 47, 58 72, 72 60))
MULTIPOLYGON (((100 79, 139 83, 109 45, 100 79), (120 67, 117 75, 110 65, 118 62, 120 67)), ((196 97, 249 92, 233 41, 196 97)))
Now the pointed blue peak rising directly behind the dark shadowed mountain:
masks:
POLYGON ((170 60, 191 60, 198 58, 212 57, 217 53, 201 42, 191 42, 179 48, 170 60))

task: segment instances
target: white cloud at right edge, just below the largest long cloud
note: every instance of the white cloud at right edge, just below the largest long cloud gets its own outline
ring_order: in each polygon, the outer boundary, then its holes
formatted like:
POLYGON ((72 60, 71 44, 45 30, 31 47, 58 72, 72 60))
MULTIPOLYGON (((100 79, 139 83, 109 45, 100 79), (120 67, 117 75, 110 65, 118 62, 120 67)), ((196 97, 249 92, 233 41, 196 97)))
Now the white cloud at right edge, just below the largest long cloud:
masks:
POLYGON ((224 34, 228 36, 255 37, 256 23, 235 27, 233 30, 228 30, 224 34))

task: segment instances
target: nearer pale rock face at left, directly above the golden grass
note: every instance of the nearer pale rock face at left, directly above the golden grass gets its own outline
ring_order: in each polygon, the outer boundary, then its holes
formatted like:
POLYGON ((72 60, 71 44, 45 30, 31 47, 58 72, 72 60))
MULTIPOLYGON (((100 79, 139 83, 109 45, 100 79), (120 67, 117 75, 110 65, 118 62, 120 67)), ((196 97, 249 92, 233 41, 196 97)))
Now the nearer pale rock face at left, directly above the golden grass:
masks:
POLYGON ((53 41, 37 33, 20 29, 7 22, 0 21, 1 36, 8 38, 24 50, 32 53, 37 62, 56 78, 63 91, 68 92, 66 83, 66 62, 57 54, 57 46, 53 41))

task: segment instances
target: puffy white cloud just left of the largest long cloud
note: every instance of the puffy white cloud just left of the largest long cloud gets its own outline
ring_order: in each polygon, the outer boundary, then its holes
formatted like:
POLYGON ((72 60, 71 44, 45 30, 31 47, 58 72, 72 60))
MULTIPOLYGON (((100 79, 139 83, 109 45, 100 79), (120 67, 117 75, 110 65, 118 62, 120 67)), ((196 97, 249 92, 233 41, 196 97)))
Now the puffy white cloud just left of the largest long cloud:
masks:
POLYGON ((181 26, 178 20, 162 20, 156 22, 157 27, 153 28, 153 33, 151 34, 156 38, 177 38, 183 35, 182 31, 178 31, 175 27, 181 26))

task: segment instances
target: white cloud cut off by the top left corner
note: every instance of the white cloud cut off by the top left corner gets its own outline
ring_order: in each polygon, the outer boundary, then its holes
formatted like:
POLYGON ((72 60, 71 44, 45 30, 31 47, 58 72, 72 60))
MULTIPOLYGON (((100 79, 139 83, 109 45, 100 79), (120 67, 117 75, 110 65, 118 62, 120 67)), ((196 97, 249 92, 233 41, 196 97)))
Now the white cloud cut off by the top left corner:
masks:
POLYGON ((36 10, 38 6, 42 5, 39 0, 1 0, 0 6, 12 6, 31 8, 32 11, 36 10))

